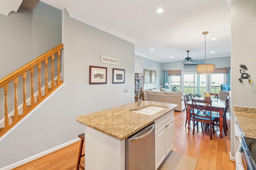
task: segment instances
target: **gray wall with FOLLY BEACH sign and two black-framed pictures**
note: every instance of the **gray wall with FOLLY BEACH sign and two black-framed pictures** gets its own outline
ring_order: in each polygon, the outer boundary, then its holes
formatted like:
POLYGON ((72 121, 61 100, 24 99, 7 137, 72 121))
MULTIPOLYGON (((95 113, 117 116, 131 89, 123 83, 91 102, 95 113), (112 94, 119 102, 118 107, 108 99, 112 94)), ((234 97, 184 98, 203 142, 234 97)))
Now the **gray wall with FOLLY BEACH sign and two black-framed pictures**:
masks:
MULTIPOLYGON (((47 15, 49 12, 47 10, 47 15)), ((79 115, 134 102, 134 44, 69 18, 66 11, 62 14, 65 85, 0 142, 1 153, 4 153, 0 154, 0 167, 76 139, 84 132, 84 126, 76 122, 79 115), (120 64, 100 63, 100 55, 118 58, 120 64), (107 84, 89 85, 90 65, 108 68, 107 84), (112 68, 125 69, 124 84, 112 84, 112 68), (128 93, 124 93, 124 88, 128 88, 128 93)), ((13 22, 9 29, 14 27, 13 22)), ((20 24, 24 30, 32 29, 32 23, 20 24)), ((15 39, 12 34, 9 36, 15 39)), ((39 41, 40 37, 35 39, 39 41)), ((22 43, 22 39, 19 40, 18 44, 22 43)), ((28 44, 24 48, 31 48, 28 44)), ((16 56, 15 60, 24 58, 16 56)), ((4 64, 4 68, 8 65, 4 64)))

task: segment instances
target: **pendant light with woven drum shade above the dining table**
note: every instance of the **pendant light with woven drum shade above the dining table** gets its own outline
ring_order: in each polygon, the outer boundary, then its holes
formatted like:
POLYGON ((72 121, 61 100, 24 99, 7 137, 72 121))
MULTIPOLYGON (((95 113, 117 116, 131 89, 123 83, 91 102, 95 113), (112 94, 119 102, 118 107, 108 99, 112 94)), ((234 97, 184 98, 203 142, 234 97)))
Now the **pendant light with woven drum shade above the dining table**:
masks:
POLYGON ((208 33, 208 31, 202 33, 204 35, 204 64, 198 64, 196 66, 197 74, 212 74, 215 69, 214 64, 206 64, 206 35, 208 33))

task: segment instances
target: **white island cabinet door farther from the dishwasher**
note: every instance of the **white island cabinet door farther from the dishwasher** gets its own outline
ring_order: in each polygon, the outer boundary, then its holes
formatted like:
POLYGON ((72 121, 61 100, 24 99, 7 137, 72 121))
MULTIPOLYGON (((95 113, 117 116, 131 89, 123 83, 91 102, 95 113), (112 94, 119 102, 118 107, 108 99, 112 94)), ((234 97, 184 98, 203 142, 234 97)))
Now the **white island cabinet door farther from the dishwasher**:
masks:
POLYGON ((166 156, 174 144, 174 117, 166 123, 166 156))

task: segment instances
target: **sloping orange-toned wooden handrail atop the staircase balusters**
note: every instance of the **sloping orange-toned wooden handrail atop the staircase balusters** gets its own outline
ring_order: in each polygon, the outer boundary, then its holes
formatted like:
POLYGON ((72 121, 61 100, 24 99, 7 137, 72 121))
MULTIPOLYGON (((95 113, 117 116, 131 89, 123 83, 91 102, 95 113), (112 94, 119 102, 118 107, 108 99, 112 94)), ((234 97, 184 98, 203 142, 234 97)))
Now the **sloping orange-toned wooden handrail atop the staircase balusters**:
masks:
POLYGON ((53 49, 51 49, 50 51, 44 53, 43 55, 41 55, 40 57, 34 59, 33 61, 29 62, 28 64, 22 66, 21 68, 19 68, 18 70, 12 72, 11 74, 9 74, 8 76, 2 78, 0 80, 0 88, 3 87, 5 84, 7 84, 8 82, 14 80, 14 78, 20 76, 21 74, 23 74, 24 72, 30 70, 31 68, 34 68, 34 66, 36 66, 37 64, 41 63, 42 61, 44 61, 45 59, 47 59, 48 57, 54 55, 55 53, 57 53, 58 51, 60 51, 61 49, 63 49, 63 44, 60 44, 56 47, 54 47, 53 49))

